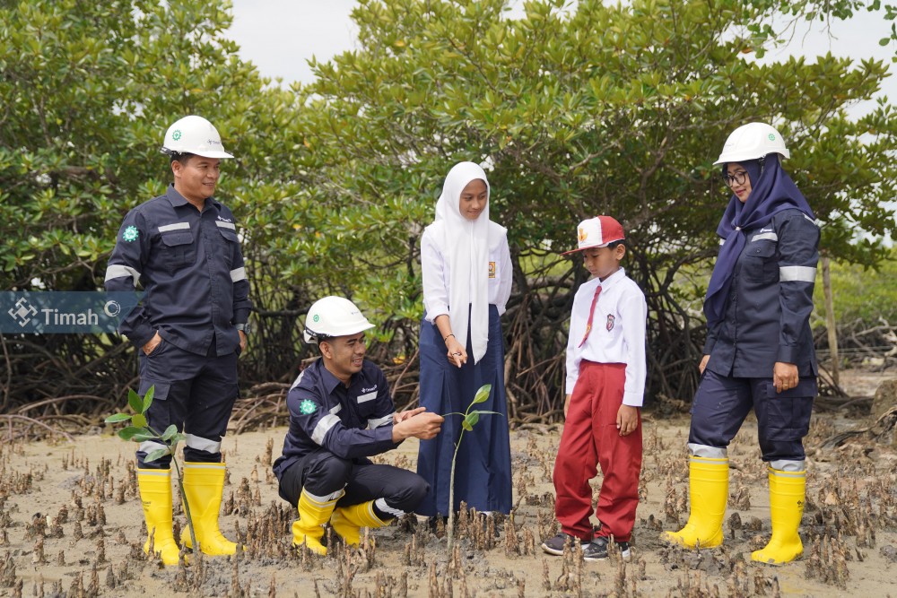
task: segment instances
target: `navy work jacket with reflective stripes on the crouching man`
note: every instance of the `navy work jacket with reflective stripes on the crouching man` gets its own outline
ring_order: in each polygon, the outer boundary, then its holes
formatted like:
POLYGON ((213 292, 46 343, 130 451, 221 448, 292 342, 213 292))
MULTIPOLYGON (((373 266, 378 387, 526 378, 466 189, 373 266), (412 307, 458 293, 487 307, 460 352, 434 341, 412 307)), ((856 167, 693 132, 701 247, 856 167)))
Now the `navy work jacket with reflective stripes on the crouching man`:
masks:
POLYGON ((318 358, 293 382, 286 405, 290 429, 283 455, 274 461, 278 480, 292 464, 321 447, 344 459, 358 459, 397 446, 392 441, 396 406, 387 379, 368 360, 347 388, 318 358))

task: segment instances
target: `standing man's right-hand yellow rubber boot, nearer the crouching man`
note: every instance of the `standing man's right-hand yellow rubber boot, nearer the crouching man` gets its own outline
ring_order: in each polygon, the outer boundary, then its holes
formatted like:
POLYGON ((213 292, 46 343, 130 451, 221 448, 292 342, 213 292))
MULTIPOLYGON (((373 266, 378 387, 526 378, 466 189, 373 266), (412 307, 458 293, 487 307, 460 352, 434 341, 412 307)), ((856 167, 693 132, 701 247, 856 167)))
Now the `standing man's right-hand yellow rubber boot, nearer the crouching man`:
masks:
MULTIPOLYGON (((218 527, 218 514, 222 507, 224 491, 224 469, 222 463, 184 464, 184 494, 190 506, 190 516, 196 531, 196 542, 203 554, 212 557, 231 555, 237 551, 237 544, 231 542, 218 527)), ((187 512, 187 509, 184 509, 187 512)), ((180 534, 180 542, 193 548, 189 526, 180 534)))

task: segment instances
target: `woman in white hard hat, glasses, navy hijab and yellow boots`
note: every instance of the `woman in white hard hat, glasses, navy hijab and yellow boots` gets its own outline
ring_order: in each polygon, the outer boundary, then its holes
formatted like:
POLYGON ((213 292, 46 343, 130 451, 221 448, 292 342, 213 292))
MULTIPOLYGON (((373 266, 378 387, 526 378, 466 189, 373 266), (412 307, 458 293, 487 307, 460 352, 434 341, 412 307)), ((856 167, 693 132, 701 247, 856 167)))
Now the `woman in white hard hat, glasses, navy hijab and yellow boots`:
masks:
POLYGON ((809 317, 819 257, 814 214, 779 160, 778 131, 751 123, 729 135, 714 164, 733 195, 719 222, 723 239, 704 314, 707 342, 688 440, 691 515, 668 542, 713 548, 723 541, 727 446, 753 408, 768 464, 772 537, 754 561, 797 559, 806 465, 803 438, 816 394, 809 317))

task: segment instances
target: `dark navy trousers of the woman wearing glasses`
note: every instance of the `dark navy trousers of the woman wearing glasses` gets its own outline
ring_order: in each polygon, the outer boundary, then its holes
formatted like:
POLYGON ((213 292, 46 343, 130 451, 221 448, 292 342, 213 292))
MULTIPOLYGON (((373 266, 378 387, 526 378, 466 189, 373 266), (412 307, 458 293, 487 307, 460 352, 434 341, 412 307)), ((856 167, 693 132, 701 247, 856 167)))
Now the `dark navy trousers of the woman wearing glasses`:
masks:
POLYGON ((805 378, 776 393, 771 378, 720 376, 708 369, 694 395, 688 441, 728 446, 753 407, 763 461, 803 461, 816 389, 816 379, 805 378))

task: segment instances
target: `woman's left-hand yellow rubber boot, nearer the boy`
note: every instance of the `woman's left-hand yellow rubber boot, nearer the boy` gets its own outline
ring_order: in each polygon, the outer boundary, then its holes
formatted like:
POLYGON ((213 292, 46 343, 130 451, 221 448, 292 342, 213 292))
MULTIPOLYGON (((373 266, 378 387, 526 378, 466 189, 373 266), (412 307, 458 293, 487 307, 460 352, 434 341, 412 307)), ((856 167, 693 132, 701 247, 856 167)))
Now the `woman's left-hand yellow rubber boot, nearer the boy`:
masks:
POLYGON ((686 548, 715 548, 723 543, 723 517, 728 499, 728 459, 692 456, 688 464, 691 513, 678 532, 661 540, 686 548))

